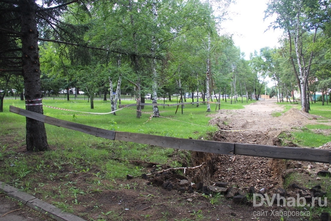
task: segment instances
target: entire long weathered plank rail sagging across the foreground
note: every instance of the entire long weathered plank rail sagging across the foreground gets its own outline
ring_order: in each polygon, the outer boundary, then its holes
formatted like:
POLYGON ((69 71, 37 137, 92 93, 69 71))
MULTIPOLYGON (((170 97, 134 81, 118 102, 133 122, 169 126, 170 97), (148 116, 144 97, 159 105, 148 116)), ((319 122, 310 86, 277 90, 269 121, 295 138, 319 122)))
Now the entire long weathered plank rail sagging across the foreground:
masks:
POLYGON ((42 121, 47 124, 77 130, 86 134, 103 137, 110 140, 122 140, 160 147, 202 151, 215 154, 236 154, 254 157, 268 157, 331 164, 331 152, 325 149, 230 143, 209 140, 184 139, 130 132, 119 132, 61 120, 13 106, 9 107, 9 111, 23 115, 25 117, 42 121))

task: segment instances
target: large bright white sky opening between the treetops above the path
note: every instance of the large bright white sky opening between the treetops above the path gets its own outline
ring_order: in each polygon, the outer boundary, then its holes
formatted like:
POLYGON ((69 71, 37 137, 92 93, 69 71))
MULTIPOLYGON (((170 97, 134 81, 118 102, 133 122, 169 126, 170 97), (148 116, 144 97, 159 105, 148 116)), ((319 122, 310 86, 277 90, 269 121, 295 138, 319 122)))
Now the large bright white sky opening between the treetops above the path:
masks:
POLYGON ((233 34, 234 44, 245 53, 245 59, 249 60, 250 53, 262 47, 278 47, 278 38, 282 31, 268 28, 274 19, 263 21, 267 0, 236 0, 235 5, 229 8, 229 17, 221 23, 224 33, 233 34))

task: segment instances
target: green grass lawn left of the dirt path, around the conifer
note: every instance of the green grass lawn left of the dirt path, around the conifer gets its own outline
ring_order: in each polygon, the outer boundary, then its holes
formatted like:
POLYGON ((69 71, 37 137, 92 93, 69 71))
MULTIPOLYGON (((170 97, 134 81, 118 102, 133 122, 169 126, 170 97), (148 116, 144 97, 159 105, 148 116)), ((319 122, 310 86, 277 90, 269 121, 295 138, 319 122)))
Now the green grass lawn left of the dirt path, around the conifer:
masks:
MULTIPOLYGON (((124 100, 122 104, 131 104, 134 101, 124 100)), ((146 101, 151 102, 151 101, 146 101)), ((175 103, 176 99, 171 103, 175 103)), ((162 103, 162 102, 161 102, 162 103)), ((169 102, 169 104, 171 104, 169 102)), ((244 108, 241 104, 230 104, 222 102, 222 109, 239 109, 244 108)), ((0 158, 8 155, 9 149, 18 148, 25 143, 25 117, 9 112, 9 106, 15 106, 25 109, 24 101, 20 100, 4 100, 4 112, 0 113, 0 135, 8 136, 14 140, 15 145, 7 148, 3 144, 3 151, 0 151, 0 158)), ((82 112, 110 112, 111 106, 109 101, 94 101, 94 109, 90 109, 90 103, 87 100, 43 100, 43 105, 68 109, 73 111, 58 110, 49 107, 43 107, 44 114, 47 116, 72 121, 80 124, 99 127, 107 130, 155 134, 161 136, 171 136, 179 138, 199 139, 208 137, 208 134, 214 133, 217 128, 209 125, 211 117, 208 116, 207 106, 200 104, 185 105, 183 114, 179 107, 175 114, 177 106, 162 107, 159 106, 160 115, 162 117, 153 117, 149 120, 152 114, 152 106, 145 106, 142 117, 136 118, 136 111, 133 108, 124 108, 113 114, 89 114, 82 112), (74 112, 82 111, 82 112, 74 112)), ((215 104, 211 105, 212 112, 215 113, 215 104)), ((100 137, 91 136, 78 131, 57 127, 45 124, 47 132, 48 144, 51 146, 51 151, 43 153, 43 161, 49 168, 58 168, 61 170, 63 165, 71 165, 76 173, 83 173, 93 168, 95 165, 101 165, 100 171, 103 177, 112 180, 122 178, 125 174, 138 176, 142 173, 143 167, 134 166, 125 161, 113 160, 119 158, 123 160, 141 160, 146 162, 156 162, 166 164, 173 149, 153 147, 144 144, 136 144, 132 142, 112 141, 100 137), (105 163, 105 161, 107 161, 105 163), (74 163, 76 162, 76 163, 74 163), (111 172, 110 172, 111 171, 111 172)), ((184 154, 185 155, 185 154, 184 154)), ((26 176, 31 171, 35 171, 40 167, 41 160, 29 159, 30 156, 19 156, 20 162, 24 162, 17 171, 8 167, 8 173, 17 174, 18 177, 26 176), (27 172, 28 171, 28 172, 27 172)), ((181 156, 182 161, 171 162, 171 165, 181 166, 189 159, 187 156, 181 156)), ((7 165, 15 164, 15 160, 7 159, 7 165)), ((1 173, 9 179, 7 172, 1 173)))

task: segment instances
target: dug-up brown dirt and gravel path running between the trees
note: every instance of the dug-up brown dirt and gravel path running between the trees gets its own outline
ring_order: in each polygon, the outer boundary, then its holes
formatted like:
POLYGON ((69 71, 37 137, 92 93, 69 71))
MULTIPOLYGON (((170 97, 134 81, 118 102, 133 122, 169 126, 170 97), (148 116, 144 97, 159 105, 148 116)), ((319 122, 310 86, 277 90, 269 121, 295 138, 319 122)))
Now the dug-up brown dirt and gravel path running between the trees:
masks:
MULTIPOLYGON (((220 110, 212 114, 212 124, 219 127, 214 140, 225 142, 280 145, 277 136, 293 127, 318 123, 316 116, 290 109, 279 117, 273 112, 281 112, 283 106, 275 100, 258 101, 240 110, 220 110)), ((286 146, 295 146, 288 142, 286 146)), ((305 163, 305 162, 303 162, 305 163)), ((281 172, 283 167, 278 159, 250 156, 220 155, 217 172, 213 181, 229 182, 239 187, 255 186, 256 189, 271 189, 282 186, 281 172)))

